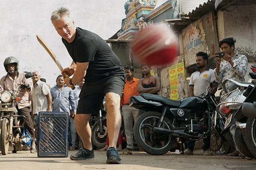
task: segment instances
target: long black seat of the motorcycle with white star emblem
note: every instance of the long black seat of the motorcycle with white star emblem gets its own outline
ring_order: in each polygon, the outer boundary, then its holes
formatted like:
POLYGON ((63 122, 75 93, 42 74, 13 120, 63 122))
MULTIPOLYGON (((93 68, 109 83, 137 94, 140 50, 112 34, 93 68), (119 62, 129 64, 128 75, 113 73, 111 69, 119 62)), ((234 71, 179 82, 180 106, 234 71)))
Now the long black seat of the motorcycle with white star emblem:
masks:
POLYGON ((179 100, 177 100, 177 101, 172 100, 169 98, 165 98, 161 95, 152 95, 149 93, 140 93, 139 95, 148 101, 157 101, 159 103, 166 104, 168 106, 179 107, 179 105, 181 104, 181 101, 179 101, 179 100))

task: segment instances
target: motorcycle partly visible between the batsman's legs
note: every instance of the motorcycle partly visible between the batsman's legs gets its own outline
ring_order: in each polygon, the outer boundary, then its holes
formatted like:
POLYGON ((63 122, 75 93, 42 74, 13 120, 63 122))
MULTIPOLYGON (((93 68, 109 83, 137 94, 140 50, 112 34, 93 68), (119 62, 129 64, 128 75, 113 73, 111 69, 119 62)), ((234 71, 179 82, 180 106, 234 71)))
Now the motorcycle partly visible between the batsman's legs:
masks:
POLYGON ((90 118, 92 129, 92 146, 94 149, 103 148, 107 141, 107 107, 104 99, 99 114, 90 118))

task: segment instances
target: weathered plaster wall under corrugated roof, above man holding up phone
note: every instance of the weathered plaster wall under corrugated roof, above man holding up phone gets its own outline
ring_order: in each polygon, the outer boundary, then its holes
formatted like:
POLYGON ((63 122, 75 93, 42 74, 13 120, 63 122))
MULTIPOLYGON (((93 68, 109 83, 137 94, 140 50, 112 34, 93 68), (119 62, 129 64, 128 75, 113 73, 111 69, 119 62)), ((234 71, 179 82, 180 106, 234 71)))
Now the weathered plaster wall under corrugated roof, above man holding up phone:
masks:
POLYGON ((234 37, 235 52, 247 56, 249 62, 256 57, 256 5, 229 6, 218 12, 218 38, 234 37))

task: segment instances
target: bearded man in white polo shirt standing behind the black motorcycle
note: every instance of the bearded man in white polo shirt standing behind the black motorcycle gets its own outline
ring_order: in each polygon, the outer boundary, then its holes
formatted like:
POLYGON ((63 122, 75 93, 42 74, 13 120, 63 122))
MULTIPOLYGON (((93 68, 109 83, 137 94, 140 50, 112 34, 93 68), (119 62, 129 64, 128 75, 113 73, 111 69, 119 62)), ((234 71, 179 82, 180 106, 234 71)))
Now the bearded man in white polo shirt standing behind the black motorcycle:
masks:
MULTIPOLYGON (((189 82, 188 97, 199 96, 206 92, 207 86, 214 81, 214 71, 207 65, 208 55, 205 52, 196 53, 196 67, 198 70, 193 72, 189 82)), ((210 139, 211 135, 207 135, 207 138, 203 139, 203 152, 204 156, 212 155, 210 151, 210 139)), ((193 155, 195 141, 188 141, 188 149, 184 151, 184 154, 193 155)))

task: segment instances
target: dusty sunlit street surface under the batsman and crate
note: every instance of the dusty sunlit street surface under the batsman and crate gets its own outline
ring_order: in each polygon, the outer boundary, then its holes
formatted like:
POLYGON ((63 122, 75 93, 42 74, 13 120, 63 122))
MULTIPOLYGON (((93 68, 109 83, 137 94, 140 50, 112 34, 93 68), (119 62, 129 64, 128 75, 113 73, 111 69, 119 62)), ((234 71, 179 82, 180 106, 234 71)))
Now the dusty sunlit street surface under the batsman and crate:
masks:
POLYGON ((174 152, 152 156, 143 151, 133 151, 123 155, 122 164, 106 164, 106 152, 95 150, 92 160, 72 161, 68 158, 40 158, 30 151, 0 154, 0 170, 256 170, 256 159, 223 155, 202 156, 202 150, 194 151, 193 156, 174 152))

